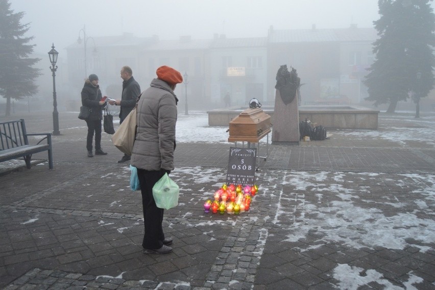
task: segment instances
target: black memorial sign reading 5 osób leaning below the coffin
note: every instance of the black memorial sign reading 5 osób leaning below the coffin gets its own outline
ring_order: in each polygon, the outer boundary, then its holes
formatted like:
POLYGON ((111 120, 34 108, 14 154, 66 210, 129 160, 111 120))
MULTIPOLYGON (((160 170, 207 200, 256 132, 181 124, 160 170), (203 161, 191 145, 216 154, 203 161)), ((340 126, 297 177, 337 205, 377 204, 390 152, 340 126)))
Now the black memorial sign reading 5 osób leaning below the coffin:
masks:
POLYGON ((257 148, 230 147, 227 184, 250 185, 255 183, 257 148))

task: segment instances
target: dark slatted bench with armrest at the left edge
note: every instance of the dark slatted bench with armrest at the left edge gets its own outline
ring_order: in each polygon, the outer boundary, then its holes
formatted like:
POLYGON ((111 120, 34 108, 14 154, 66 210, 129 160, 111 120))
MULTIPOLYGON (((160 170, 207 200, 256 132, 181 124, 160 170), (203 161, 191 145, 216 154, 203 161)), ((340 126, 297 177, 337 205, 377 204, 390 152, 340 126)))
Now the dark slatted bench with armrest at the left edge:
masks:
POLYGON ((52 134, 51 133, 33 133, 26 132, 24 119, 18 121, 0 122, 0 162, 24 158, 26 167, 30 169, 30 161, 33 153, 48 151, 49 168, 53 169, 53 151, 52 151, 52 134), (36 145, 30 145, 28 136, 45 136, 36 145), (47 140, 46 144, 40 144, 47 140))

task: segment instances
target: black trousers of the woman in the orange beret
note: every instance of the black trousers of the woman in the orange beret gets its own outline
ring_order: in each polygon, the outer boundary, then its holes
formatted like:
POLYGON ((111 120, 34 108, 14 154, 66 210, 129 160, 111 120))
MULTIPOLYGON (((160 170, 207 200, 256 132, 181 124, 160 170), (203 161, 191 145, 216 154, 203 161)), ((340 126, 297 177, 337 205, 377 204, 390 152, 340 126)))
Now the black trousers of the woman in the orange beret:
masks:
POLYGON ((156 206, 153 197, 153 186, 164 175, 164 171, 149 171, 137 169, 140 190, 142 192, 144 234, 142 247, 145 249, 160 249, 163 246, 163 209, 156 206))

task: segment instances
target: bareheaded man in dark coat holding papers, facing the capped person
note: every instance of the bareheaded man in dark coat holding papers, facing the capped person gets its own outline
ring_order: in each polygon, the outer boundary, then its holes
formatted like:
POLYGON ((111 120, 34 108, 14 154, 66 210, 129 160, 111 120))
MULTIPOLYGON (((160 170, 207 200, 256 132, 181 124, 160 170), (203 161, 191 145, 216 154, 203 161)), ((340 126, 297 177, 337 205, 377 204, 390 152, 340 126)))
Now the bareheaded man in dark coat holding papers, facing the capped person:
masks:
MULTIPOLYGON (((127 118, 131 110, 136 105, 136 99, 140 95, 139 83, 133 78, 133 71, 130 66, 123 66, 121 69, 121 78, 123 81, 123 93, 120 100, 109 101, 111 105, 121 106, 119 110, 119 124, 122 124, 127 118)), ((124 154, 123 158, 118 163, 130 160, 130 155, 124 154)))

